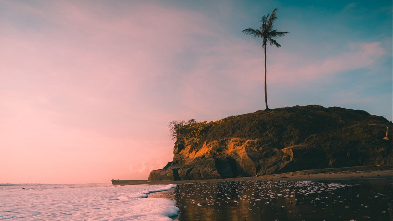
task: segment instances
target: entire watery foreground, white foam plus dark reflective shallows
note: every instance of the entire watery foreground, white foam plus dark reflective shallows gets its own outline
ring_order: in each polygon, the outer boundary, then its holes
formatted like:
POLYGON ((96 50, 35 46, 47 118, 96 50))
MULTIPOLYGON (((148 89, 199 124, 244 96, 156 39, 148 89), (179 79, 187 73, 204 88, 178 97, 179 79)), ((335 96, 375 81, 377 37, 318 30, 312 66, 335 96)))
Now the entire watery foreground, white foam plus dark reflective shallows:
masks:
POLYGON ((393 220, 393 179, 0 184, 0 220, 393 220))

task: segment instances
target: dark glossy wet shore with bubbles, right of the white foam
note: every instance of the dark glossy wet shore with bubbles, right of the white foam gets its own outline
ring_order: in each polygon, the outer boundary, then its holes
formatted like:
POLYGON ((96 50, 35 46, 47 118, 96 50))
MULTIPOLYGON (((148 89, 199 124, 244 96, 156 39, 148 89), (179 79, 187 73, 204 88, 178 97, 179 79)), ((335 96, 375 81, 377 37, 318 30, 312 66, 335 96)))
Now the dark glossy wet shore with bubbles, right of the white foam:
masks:
POLYGON ((187 220, 391 220, 392 180, 345 184, 312 181, 226 181, 179 184, 168 197, 187 220), (370 218, 370 219, 369 219, 370 218))

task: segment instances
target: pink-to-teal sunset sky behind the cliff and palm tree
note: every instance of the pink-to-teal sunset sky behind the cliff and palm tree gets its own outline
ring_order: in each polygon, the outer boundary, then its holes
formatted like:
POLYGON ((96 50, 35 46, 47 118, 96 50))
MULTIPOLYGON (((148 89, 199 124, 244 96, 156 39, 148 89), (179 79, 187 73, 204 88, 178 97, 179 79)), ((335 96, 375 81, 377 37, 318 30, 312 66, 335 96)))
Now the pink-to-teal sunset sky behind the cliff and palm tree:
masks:
POLYGON ((381 1, 0 1, 0 183, 147 179, 171 120, 318 104, 393 119, 393 7, 381 1))

